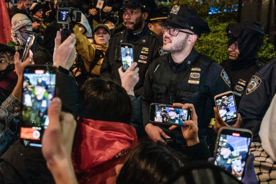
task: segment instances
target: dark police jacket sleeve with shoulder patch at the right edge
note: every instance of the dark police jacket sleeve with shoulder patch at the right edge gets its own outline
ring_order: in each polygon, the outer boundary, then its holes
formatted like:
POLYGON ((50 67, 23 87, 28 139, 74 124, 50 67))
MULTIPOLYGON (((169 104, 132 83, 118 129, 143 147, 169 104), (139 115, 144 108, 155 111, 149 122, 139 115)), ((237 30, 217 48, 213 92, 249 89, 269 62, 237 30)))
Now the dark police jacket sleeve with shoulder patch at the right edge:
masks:
POLYGON ((240 103, 242 128, 251 130, 253 142, 261 143, 259 137, 261 122, 275 93, 276 58, 252 76, 240 103))

